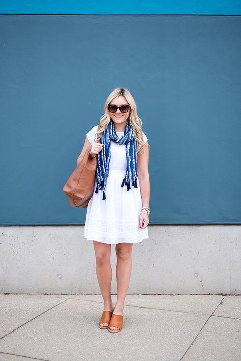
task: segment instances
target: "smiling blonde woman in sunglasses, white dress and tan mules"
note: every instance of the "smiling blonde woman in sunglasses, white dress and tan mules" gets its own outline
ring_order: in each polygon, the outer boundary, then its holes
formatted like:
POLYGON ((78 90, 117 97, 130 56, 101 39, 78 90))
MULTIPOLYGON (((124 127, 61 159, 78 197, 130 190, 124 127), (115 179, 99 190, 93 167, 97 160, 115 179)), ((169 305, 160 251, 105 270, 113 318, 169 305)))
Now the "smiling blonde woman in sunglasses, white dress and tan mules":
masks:
POLYGON ((96 273, 104 300, 99 327, 122 329, 124 301, 132 269, 133 243, 148 236, 150 182, 149 148, 141 131, 136 103, 127 89, 117 88, 105 102, 100 128, 86 135, 77 164, 89 149, 97 157, 93 196, 86 212, 84 237, 93 240, 96 273), (97 142, 97 140, 99 140, 97 142), (116 244, 117 302, 111 299, 111 244, 116 244))

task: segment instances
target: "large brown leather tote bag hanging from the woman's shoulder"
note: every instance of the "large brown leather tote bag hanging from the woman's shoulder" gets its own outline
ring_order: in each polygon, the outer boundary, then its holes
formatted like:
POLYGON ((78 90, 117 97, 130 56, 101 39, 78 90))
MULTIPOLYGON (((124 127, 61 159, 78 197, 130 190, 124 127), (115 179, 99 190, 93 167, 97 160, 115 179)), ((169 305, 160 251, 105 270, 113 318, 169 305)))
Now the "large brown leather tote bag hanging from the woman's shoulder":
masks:
MULTIPOLYGON (((100 139, 97 142, 99 143, 100 139)), ((63 192, 72 207, 87 208, 94 192, 97 155, 92 158, 89 154, 90 150, 86 150, 81 162, 63 187, 63 192)))

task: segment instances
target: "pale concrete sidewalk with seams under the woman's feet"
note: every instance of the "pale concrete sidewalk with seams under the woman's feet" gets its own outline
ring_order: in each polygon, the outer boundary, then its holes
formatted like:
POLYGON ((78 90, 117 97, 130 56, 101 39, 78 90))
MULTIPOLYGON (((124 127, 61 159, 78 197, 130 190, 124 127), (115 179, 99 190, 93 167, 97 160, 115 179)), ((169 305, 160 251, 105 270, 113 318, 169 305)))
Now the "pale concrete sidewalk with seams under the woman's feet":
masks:
POLYGON ((102 311, 101 295, 2 294, 0 360, 241 359, 241 296, 127 295, 116 334, 102 311))

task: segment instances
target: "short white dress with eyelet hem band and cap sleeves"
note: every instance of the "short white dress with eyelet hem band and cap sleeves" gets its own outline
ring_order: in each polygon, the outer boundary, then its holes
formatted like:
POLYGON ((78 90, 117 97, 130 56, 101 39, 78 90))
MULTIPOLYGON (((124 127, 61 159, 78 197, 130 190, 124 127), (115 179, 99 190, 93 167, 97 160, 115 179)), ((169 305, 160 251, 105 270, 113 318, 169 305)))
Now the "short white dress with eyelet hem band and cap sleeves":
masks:
MULTIPOLYGON (((91 144, 94 144, 98 125, 94 126, 86 135, 91 144)), ((142 132, 143 133, 143 132, 142 132)), ((122 137, 124 132, 116 132, 122 137)), ((144 143, 148 140, 143 133, 144 143)), ((126 174, 126 145, 117 144, 111 140, 111 157, 109 163, 109 176, 106 181, 106 199, 102 200, 103 191, 96 190, 96 179, 94 192, 89 200, 86 220, 84 225, 84 237, 89 240, 97 240, 107 244, 120 242, 137 243, 148 236, 148 226, 139 227, 139 218, 142 208, 139 179, 137 188, 131 185, 120 185, 126 174)), ((132 181, 130 182, 132 184, 132 181)))

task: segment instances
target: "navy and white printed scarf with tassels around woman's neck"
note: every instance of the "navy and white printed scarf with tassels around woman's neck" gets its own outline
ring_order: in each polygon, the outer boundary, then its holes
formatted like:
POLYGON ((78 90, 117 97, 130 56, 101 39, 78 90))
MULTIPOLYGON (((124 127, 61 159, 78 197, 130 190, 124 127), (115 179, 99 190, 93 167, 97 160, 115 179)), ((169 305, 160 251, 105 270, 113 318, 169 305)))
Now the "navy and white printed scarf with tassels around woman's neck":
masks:
POLYGON ((133 179, 132 186, 137 188, 137 142, 134 137, 134 129, 131 123, 128 121, 124 131, 124 135, 118 138, 114 122, 110 120, 107 129, 101 133, 100 143, 104 144, 101 152, 97 155, 97 167, 96 167, 96 182, 97 187, 95 193, 98 193, 98 187, 103 191, 102 200, 106 199, 105 187, 106 179, 109 175, 109 163, 111 157, 110 141, 113 140, 117 144, 126 144, 126 159, 127 169, 125 178, 122 181, 121 187, 127 186, 127 190, 131 189, 130 179, 133 179))

